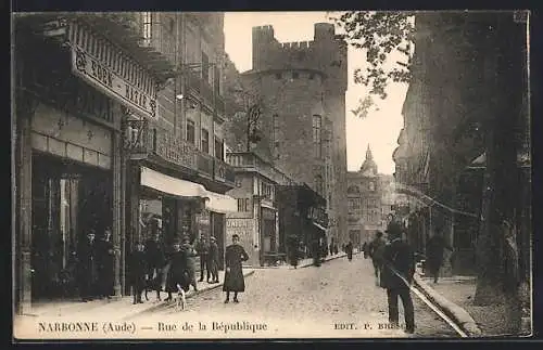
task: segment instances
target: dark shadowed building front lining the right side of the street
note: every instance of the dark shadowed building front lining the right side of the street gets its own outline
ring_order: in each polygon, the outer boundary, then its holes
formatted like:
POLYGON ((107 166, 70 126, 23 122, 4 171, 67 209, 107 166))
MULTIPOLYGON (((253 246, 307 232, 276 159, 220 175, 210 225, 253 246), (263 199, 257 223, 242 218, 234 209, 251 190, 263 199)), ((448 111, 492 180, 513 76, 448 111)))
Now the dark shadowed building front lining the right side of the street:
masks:
MULTIPOLYGON (((526 22, 514 12, 454 12, 421 13, 415 23, 413 78, 393 155, 411 239, 424 249, 442 233, 455 249, 444 273, 487 278, 503 257, 482 247, 503 245, 497 222, 507 218, 518 228, 518 263, 528 281, 526 22)), ((485 285, 500 283, 493 281, 485 285)))

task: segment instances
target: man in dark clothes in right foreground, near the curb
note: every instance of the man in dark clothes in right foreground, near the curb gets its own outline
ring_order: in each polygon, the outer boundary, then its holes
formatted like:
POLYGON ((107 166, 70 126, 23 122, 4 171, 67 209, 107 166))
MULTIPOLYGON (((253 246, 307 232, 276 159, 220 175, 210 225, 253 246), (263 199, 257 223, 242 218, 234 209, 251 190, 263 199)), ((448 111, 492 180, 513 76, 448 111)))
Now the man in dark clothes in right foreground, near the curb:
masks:
POLYGON ((402 299, 405 332, 415 333, 415 310, 411 297, 411 283, 415 273, 415 255, 407 242, 402 239, 402 229, 391 223, 386 233, 390 243, 384 246, 382 256, 381 287, 387 289, 389 322, 399 327, 397 298, 402 299))

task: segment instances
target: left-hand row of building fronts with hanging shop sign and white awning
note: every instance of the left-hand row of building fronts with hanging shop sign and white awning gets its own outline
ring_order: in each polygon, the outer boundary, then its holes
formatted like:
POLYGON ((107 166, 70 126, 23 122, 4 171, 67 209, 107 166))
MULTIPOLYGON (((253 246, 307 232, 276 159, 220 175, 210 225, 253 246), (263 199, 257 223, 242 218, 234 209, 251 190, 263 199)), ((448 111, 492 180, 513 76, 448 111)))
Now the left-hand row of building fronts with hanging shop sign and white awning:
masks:
POLYGON ((15 16, 17 313, 77 296, 77 245, 91 231, 99 239, 111 228, 117 296, 129 294, 137 239, 207 230, 224 243, 236 200, 224 195, 235 173, 220 127, 222 16, 15 16))

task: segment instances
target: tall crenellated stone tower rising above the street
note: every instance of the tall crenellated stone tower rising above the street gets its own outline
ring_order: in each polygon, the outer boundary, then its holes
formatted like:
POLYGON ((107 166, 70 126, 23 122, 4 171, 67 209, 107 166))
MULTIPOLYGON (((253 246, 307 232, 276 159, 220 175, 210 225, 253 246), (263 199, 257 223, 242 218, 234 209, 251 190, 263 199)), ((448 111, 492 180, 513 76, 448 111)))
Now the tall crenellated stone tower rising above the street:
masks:
POLYGON ((261 129, 275 165, 327 199, 329 237, 346 242, 346 43, 329 23, 314 40, 279 42, 272 26, 253 27, 245 87, 262 99, 261 129))

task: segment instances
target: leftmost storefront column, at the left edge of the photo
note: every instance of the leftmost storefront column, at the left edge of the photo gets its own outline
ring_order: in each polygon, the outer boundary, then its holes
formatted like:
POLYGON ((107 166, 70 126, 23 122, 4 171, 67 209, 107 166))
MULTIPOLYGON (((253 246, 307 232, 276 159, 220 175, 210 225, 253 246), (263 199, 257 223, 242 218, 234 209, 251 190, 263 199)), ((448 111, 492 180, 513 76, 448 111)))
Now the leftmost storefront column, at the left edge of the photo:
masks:
POLYGON ((15 103, 15 193, 16 210, 15 234, 16 256, 16 313, 25 314, 31 311, 31 205, 33 205, 33 151, 31 151, 31 117, 37 101, 28 94, 18 94, 15 103), (18 262, 18 263, 17 263, 18 262))

